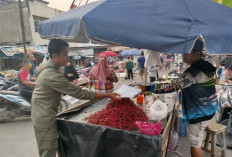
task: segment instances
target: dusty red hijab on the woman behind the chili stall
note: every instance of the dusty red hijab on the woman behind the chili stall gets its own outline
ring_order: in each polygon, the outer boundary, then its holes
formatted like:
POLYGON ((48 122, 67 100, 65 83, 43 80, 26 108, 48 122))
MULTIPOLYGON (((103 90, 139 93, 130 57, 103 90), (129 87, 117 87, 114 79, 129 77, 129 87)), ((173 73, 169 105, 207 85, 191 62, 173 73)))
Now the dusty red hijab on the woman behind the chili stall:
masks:
POLYGON ((97 65, 93 67, 93 69, 90 71, 92 75, 97 78, 99 81, 106 83, 106 79, 111 79, 111 73, 113 69, 109 67, 107 63, 107 56, 106 55, 100 55, 98 57, 97 65))

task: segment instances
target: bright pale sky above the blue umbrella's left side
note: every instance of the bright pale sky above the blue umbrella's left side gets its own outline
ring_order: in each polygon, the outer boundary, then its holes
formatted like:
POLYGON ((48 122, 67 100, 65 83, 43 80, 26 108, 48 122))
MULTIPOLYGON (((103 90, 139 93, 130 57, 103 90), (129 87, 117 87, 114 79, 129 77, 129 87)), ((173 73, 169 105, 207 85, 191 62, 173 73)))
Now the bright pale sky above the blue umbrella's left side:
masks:
MULTIPOLYGON (((49 7, 51 8, 56 8, 58 10, 62 10, 62 11, 67 11, 69 10, 73 0, 44 0, 49 2, 49 7)), ((81 2, 81 4, 86 4, 86 2, 94 2, 96 0, 76 0, 76 5, 78 6, 78 4, 81 2)))

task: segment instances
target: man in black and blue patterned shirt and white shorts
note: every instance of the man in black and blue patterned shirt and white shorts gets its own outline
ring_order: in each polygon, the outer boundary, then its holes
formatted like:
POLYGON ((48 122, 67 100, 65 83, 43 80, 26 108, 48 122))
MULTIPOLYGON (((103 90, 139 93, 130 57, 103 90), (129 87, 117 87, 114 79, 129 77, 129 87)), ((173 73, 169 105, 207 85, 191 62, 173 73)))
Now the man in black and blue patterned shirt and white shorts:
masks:
POLYGON ((183 114, 189 122, 187 137, 192 157, 202 156, 204 130, 218 108, 214 78, 216 68, 203 59, 203 45, 198 39, 192 51, 184 55, 184 62, 190 64, 190 67, 179 80, 183 88, 183 114))

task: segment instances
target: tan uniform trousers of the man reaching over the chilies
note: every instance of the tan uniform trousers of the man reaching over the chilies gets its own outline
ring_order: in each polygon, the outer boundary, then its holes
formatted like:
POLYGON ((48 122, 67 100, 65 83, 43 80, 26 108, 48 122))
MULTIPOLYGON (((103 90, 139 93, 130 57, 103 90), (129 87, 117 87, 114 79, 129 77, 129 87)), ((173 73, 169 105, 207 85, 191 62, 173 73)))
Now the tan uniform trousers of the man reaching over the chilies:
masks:
POLYGON ((39 128, 34 126, 40 157, 56 157, 58 153, 57 128, 39 128))

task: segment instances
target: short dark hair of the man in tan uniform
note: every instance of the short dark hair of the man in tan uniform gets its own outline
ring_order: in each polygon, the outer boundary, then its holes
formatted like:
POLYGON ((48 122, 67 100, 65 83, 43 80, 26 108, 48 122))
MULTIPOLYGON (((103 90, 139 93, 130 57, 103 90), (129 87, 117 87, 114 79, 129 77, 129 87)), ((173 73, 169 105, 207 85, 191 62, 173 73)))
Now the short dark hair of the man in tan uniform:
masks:
POLYGON ((48 44, 48 53, 52 58, 53 54, 59 55, 63 47, 69 47, 69 44, 62 39, 52 39, 48 44))

